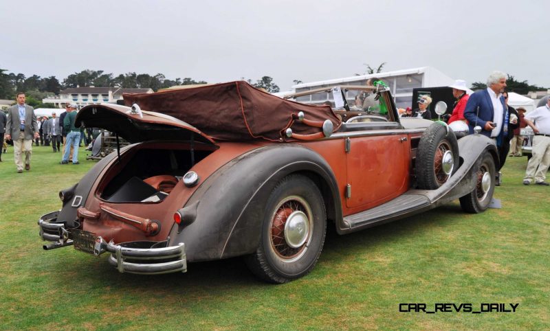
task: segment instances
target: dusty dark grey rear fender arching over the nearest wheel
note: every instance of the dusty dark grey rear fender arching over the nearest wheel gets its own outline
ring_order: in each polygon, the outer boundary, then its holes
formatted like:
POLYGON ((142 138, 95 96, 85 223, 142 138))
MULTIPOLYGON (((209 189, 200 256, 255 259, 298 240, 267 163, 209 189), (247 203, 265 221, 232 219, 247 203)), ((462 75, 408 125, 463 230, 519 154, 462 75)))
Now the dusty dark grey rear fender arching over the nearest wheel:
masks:
POLYGON ((237 157, 208 177, 186 203, 196 208, 195 220, 174 227, 170 244, 184 242, 189 261, 252 253, 259 244, 267 198, 278 181, 296 172, 314 179, 329 204, 328 217, 338 222, 342 207, 327 161, 298 144, 270 145, 237 157))

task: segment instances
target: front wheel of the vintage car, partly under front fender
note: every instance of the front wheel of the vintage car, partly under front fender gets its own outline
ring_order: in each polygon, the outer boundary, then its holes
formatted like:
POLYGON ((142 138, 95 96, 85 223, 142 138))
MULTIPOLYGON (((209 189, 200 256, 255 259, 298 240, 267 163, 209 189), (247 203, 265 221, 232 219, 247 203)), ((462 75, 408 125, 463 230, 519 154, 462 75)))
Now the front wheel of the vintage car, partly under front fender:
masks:
POLYGON ((496 184, 496 167, 494 165, 494 159, 489 153, 483 155, 477 169, 476 187, 472 192, 459 199, 462 209, 472 214, 484 212, 485 209, 489 207, 496 184), (484 176, 486 176, 485 181, 490 181, 489 184, 484 184, 484 176))

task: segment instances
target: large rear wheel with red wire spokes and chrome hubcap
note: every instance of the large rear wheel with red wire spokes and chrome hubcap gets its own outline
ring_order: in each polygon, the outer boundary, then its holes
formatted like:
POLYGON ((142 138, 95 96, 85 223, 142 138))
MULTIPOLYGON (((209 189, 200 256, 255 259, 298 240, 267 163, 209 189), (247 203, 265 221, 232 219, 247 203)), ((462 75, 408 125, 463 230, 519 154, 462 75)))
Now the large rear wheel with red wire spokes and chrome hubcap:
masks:
POLYGON ((282 284, 303 277, 319 258, 326 229, 325 203, 315 183, 299 174, 286 176, 267 199, 259 247, 245 262, 267 282, 282 284), (287 231, 291 215, 305 231, 287 231), (287 242, 292 233, 298 238, 287 242))

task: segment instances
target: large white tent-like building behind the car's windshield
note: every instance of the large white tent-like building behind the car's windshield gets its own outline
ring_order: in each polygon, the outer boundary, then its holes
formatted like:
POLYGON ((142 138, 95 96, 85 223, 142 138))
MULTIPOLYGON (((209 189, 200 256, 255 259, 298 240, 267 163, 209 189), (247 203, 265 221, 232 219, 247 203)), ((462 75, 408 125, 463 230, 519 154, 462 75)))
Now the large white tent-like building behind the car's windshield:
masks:
MULTIPOLYGON (((298 92, 330 87, 334 85, 364 85, 369 78, 381 78, 390 87, 391 94, 397 107, 410 106, 412 102, 412 89, 417 87, 446 87, 454 83, 454 80, 433 67, 419 67, 397 71, 373 73, 371 75, 351 76, 319 82, 297 84, 292 87, 298 92)), ((347 92, 347 99, 353 101, 356 91, 347 92), (352 95, 353 94, 353 95, 352 95)), ((299 102, 322 104, 327 100, 333 101, 331 93, 317 93, 297 98, 299 102)))

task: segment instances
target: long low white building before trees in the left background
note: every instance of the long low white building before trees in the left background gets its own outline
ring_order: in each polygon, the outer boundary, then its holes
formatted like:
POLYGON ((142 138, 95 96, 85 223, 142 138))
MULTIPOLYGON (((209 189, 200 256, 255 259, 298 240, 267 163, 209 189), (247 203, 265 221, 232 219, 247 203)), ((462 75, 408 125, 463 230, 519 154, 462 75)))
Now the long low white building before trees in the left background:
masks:
POLYGON ((87 104, 99 104, 101 102, 116 103, 122 100, 122 93, 153 93, 152 89, 122 89, 120 87, 71 87, 64 89, 59 95, 47 97, 42 103, 55 104, 63 108, 65 104, 74 102, 79 108, 87 104))

